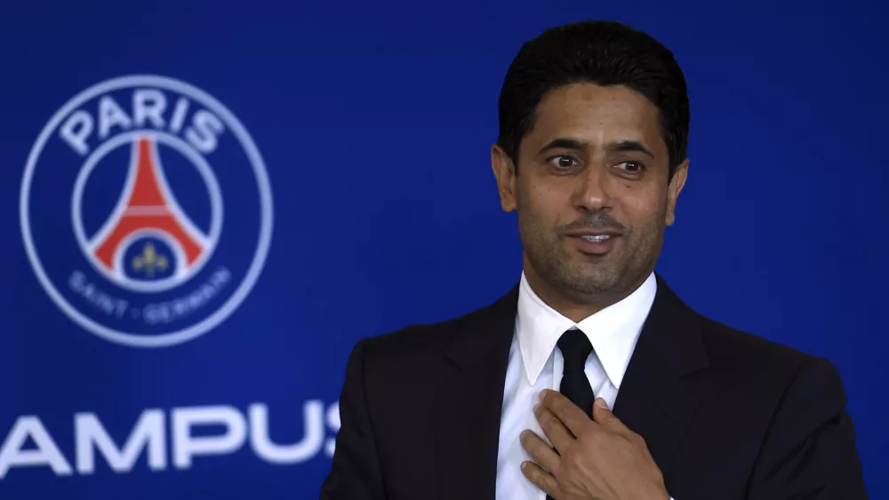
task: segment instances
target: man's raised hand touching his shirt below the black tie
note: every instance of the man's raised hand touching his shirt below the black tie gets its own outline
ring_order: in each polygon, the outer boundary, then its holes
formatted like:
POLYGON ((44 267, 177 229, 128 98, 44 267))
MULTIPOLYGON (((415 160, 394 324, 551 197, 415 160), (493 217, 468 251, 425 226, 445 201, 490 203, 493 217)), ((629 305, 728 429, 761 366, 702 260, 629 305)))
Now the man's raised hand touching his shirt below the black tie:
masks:
POLYGON ((645 445, 603 399, 593 420, 557 391, 541 392, 534 414, 553 448, 533 431, 522 446, 534 462, 522 463, 529 480, 556 500, 668 500, 663 475, 645 445), (536 462, 536 464, 535 464, 536 462))

